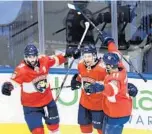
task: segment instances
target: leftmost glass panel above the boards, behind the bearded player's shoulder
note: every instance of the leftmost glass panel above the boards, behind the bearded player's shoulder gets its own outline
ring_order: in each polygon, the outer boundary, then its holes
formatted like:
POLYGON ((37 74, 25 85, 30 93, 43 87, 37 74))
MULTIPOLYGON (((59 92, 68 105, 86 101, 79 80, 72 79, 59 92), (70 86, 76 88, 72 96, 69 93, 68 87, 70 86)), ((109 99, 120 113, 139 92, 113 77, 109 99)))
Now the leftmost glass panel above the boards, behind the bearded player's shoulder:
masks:
POLYGON ((0 10, 2 6, 11 8, 11 12, 4 10, 5 18, 0 22, 3 22, 0 25, 0 65, 14 67, 23 58, 25 45, 38 42, 37 2, 0 2, 0 10))

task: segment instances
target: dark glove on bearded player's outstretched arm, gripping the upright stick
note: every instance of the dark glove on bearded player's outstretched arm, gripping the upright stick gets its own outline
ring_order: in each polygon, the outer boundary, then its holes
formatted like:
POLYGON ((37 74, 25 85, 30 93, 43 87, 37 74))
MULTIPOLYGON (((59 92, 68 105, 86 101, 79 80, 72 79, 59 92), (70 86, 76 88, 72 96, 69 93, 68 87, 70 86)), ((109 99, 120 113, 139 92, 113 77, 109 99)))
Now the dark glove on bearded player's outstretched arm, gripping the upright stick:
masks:
POLYGON ((73 57, 74 59, 78 59, 81 56, 80 49, 77 49, 75 47, 68 47, 66 49, 65 57, 73 57))

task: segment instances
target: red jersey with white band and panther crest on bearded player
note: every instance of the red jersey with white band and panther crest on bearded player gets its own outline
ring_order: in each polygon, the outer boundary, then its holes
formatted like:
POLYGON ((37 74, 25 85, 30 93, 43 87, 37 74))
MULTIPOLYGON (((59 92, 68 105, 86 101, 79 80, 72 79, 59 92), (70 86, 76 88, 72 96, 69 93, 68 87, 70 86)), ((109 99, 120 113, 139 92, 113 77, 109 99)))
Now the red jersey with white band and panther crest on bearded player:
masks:
POLYGON ((21 86, 21 103, 29 107, 41 107, 52 99, 50 84, 47 79, 50 67, 66 61, 64 56, 40 56, 40 67, 33 70, 22 61, 15 69, 11 79, 21 86))

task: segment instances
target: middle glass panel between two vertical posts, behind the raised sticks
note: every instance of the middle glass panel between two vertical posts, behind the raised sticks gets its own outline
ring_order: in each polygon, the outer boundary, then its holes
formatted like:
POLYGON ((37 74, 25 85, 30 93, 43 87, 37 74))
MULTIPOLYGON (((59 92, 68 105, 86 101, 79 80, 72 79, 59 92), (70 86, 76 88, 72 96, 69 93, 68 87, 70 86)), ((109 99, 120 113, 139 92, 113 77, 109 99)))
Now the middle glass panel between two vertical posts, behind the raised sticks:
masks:
MULTIPOLYGON (((45 53, 54 54, 64 52, 67 46, 77 46, 84 31, 84 17, 70 10, 67 3, 76 4, 100 28, 111 35, 111 14, 109 2, 81 1, 73 3, 68 1, 45 1, 45 53), (79 5, 78 5, 79 4, 79 5)), ((95 43, 98 50, 101 41, 97 39, 98 32, 90 28, 84 43, 95 43)), ((100 54, 102 51, 100 49, 100 54)), ((99 54, 99 56, 100 56, 99 54)), ((61 66, 60 66, 61 67, 61 66)), ((63 67, 63 66, 62 66, 63 67)), ((73 68, 76 66, 74 65, 73 68)))

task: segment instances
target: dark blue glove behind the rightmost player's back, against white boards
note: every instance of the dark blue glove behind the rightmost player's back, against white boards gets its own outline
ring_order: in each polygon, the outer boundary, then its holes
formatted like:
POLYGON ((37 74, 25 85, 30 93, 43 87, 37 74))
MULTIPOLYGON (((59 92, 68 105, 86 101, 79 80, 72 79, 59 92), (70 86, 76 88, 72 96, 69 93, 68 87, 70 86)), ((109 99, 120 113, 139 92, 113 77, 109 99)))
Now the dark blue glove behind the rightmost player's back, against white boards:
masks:
POLYGON ((128 93, 130 96, 136 97, 136 95, 138 93, 137 87, 132 83, 128 83, 128 93))

